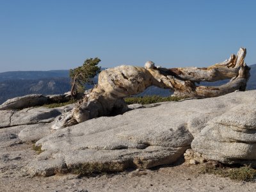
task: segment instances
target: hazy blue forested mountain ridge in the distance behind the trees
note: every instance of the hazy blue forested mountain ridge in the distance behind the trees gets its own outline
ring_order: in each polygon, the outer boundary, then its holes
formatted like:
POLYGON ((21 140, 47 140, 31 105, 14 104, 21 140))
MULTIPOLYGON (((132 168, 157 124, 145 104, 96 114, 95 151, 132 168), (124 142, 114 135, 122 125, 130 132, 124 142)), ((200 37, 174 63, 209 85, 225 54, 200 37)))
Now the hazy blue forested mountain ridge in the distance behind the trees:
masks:
MULTIPOLYGON (((248 90, 256 89, 256 64, 250 65, 250 80, 247 84, 248 90)), ((104 70, 106 68, 102 68, 104 70)), ((14 71, 0 73, 0 104, 7 99, 20 97, 23 95, 41 93, 43 95, 61 94, 70 91, 69 70, 49 70, 49 71, 14 71)), ((97 77, 93 78, 97 83, 97 77)), ((205 86, 219 86, 227 83, 227 80, 212 83, 200 83, 205 86)), ((86 85, 92 88, 92 85, 86 85)), ((151 86, 139 96, 143 95, 170 95, 170 90, 164 90, 151 86)))

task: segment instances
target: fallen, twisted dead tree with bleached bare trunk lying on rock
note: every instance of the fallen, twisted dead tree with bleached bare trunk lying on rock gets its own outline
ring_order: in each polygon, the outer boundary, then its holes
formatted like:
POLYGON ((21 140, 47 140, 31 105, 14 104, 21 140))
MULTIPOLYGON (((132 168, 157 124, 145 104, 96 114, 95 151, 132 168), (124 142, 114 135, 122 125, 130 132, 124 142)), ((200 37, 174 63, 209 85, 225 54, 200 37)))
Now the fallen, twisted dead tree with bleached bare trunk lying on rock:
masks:
POLYGON ((124 97, 143 92, 148 86, 171 89, 174 95, 192 98, 218 97, 236 90, 244 91, 250 77, 250 67, 244 63, 246 49, 222 63, 207 68, 157 68, 152 61, 145 67, 122 65, 100 72, 97 86, 86 95, 70 114, 58 118, 53 129, 67 127, 91 118, 106 116, 113 111, 122 113, 127 109, 124 97), (231 79, 221 86, 199 86, 201 81, 231 79))

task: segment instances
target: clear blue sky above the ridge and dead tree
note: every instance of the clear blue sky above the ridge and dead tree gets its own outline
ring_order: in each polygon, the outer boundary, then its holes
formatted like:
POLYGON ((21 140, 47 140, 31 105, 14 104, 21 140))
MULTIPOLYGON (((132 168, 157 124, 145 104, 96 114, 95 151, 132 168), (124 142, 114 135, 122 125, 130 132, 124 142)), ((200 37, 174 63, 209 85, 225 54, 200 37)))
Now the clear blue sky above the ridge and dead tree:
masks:
POLYGON ((207 67, 247 48, 256 63, 256 1, 0 0, 0 72, 102 67, 207 67))

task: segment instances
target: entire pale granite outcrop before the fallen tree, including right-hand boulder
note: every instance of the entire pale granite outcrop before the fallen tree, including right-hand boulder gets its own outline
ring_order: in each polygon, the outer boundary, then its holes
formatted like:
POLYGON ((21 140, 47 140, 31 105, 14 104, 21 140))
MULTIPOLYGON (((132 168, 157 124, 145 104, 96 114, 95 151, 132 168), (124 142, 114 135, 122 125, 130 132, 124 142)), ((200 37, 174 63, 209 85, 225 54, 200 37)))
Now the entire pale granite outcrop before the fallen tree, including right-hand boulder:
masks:
POLYGON ((160 103, 124 115, 88 120, 38 140, 36 146, 44 152, 26 169, 31 175, 47 176, 150 168, 175 162, 190 148, 194 138, 193 150, 205 159, 224 163, 256 159, 255 100, 256 91, 236 92, 209 99, 160 103), (227 129, 216 127, 221 124, 227 124, 227 129), (205 137, 207 131, 211 132, 205 137), (211 144, 214 142, 216 145, 211 144), (222 161, 226 153, 234 159, 222 161))

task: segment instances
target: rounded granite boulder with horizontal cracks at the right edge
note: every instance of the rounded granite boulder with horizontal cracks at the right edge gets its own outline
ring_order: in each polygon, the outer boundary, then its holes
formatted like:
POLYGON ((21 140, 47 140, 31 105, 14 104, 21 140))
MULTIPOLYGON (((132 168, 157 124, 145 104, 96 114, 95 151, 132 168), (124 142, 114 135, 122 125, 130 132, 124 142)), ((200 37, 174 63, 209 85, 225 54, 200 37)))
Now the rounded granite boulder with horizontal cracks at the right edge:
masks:
POLYGON ((202 154, 205 159, 221 163, 256 166, 255 96, 241 99, 243 104, 209 121, 193 140, 191 147, 194 151, 202 154))

